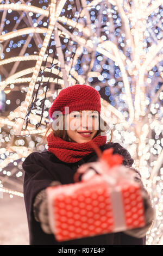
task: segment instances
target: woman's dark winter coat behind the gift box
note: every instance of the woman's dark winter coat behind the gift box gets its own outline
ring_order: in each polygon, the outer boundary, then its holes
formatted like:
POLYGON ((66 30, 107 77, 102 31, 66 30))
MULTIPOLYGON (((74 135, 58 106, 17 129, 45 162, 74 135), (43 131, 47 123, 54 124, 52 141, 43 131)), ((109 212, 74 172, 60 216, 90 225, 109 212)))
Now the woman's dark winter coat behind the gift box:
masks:
MULTIPOLYGON (((114 148, 114 154, 118 153, 123 156, 123 164, 131 167, 134 160, 119 143, 105 144, 100 148, 103 151, 111 147, 114 148)), ((22 167, 25 171, 24 202, 27 211, 30 245, 145 245, 146 237, 137 239, 123 232, 58 242, 53 234, 44 233, 40 223, 35 221, 33 203, 36 194, 48 187, 54 180, 60 181, 62 185, 74 183, 73 176, 77 168, 83 163, 95 162, 97 159, 95 152, 76 163, 62 162, 49 151, 33 152, 26 157, 22 167)))

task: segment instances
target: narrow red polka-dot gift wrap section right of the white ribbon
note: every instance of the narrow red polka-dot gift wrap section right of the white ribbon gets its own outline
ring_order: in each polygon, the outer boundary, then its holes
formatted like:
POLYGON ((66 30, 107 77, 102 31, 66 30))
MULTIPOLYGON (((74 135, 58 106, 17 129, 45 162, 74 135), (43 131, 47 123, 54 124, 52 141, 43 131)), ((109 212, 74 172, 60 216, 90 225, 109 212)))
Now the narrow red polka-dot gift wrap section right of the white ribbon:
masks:
POLYGON ((140 187, 136 185, 123 186, 122 198, 127 228, 143 227, 145 215, 140 187))

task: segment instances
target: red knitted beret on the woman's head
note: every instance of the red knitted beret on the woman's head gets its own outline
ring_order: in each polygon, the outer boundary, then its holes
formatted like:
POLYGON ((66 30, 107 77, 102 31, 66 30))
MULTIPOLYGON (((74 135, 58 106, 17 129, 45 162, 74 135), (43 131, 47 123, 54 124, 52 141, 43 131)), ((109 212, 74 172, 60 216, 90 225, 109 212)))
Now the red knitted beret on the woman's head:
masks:
POLYGON ((62 89, 51 108, 49 108, 49 117, 52 118, 55 111, 68 114, 65 107, 69 107, 69 113, 80 110, 94 110, 100 114, 101 96, 95 88, 85 84, 76 84, 62 89))

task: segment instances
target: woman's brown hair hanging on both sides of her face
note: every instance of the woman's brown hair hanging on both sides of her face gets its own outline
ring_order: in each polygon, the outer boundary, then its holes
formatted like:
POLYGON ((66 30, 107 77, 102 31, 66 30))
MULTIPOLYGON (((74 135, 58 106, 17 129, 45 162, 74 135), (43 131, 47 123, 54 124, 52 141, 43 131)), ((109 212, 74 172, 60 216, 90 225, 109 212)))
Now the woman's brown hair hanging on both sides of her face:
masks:
MULTIPOLYGON (((64 141, 72 142, 71 138, 68 137, 68 135, 67 135, 67 131, 65 130, 65 117, 64 117, 64 115, 61 115, 61 117, 59 117, 59 118, 61 118, 61 122, 62 122, 62 127, 63 127, 63 129, 62 129, 62 130, 59 130, 59 129, 58 129, 58 130, 54 130, 54 129, 53 129, 53 126, 52 126, 52 123, 51 123, 51 124, 49 124, 49 125, 47 126, 47 131, 46 131, 45 136, 43 137, 43 139, 46 139, 47 132, 48 132, 50 129, 52 129, 52 131, 53 131, 53 133, 54 133, 55 136, 60 137, 61 139, 64 139, 64 141)), ((59 118, 58 118, 58 123, 60 122, 59 118)), ((58 124, 58 123, 57 123, 57 124, 58 124)), ((57 125, 57 124, 56 124, 56 125, 57 125)), ((108 124, 100 117, 100 115, 99 115, 99 129, 98 129, 98 131, 97 131, 95 137, 100 136, 101 133, 104 133, 104 132, 105 132, 105 133, 108 133, 109 130, 110 130, 110 132, 111 132, 111 138, 110 138, 110 141, 109 141, 108 143, 110 143, 110 142, 111 142, 111 139, 112 139, 112 130, 110 129, 109 125, 108 125, 108 124), (104 126, 104 129, 101 128, 101 124, 104 126)), ((95 138, 95 137, 94 137, 94 138, 95 138)), ((108 143, 107 143, 107 144, 108 144, 108 143)))

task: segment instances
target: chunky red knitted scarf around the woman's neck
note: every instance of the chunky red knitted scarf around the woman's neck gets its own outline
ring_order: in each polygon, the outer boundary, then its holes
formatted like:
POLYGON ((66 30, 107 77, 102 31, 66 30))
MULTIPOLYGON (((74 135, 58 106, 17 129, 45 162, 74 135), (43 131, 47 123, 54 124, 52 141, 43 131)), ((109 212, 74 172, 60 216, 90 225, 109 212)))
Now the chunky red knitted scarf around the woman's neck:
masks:
MULTIPOLYGON (((96 146, 100 147, 106 143, 106 136, 97 136, 92 139, 96 146)), ((76 143, 67 142, 54 135, 51 132, 47 136, 48 151, 53 153, 62 162, 74 163, 78 162, 84 156, 91 154, 94 149, 89 142, 76 143)))

